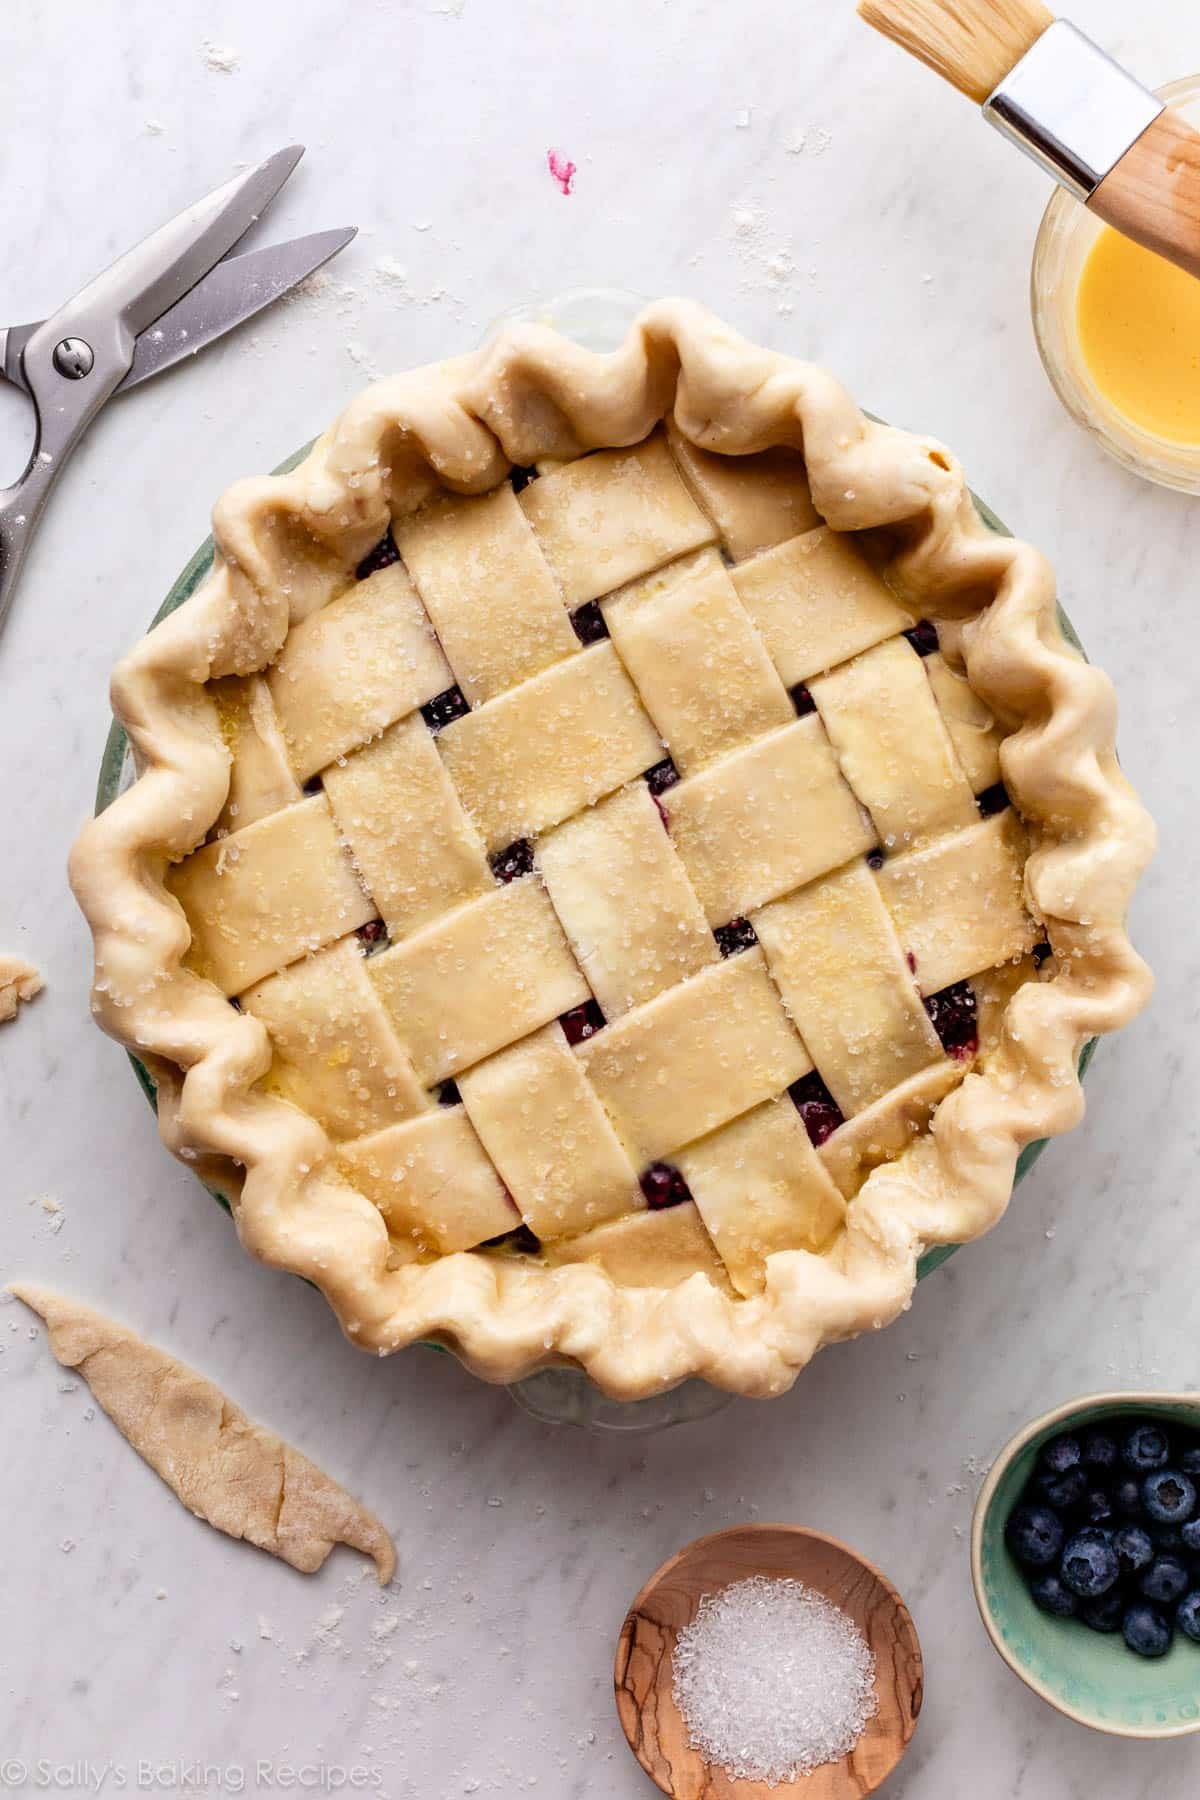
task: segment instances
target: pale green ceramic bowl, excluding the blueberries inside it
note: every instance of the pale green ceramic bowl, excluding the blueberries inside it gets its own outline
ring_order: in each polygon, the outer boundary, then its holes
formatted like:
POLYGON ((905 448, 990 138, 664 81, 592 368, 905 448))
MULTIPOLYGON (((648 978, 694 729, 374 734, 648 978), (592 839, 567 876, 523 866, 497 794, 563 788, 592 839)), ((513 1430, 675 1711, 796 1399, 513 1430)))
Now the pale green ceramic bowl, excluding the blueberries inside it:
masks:
POLYGON ((1114 1737, 1182 1737, 1200 1732, 1200 1643, 1177 1634, 1166 1656, 1144 1661, 1119 1634, 1099 1636, 1072 1618, 1040 1613, 1004 1544, 1004 1521, 1042 1444, 1114 1413, 1160 1415, 1200 1429, 1200 1393, 1087 1393, 1009 1438, 975 1501, 975 1600, 1004 1661, 1056 1712, 1114 1737))

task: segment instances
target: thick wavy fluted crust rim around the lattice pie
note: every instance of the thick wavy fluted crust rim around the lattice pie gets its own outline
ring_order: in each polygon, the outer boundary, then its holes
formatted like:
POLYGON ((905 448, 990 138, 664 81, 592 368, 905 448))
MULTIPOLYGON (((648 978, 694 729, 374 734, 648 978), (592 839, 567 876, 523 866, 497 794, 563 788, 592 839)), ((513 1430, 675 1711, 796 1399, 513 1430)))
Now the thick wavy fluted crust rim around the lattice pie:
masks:
POLYGON ((1117 767, 1112 684, 1058 630, 1049 563, 982 526, 941 445, 867 419, 828 373, 694 302, 660 301, 612 355, 509 326, 471 356, 369 387, 290 473, 232 486, 212 529, 209 578, 113 675, 139 779, 70 859, 95 941, 94 1013, 151 1067, 164 1141, 228 1195, 245 1247, 315 1282, 354 1343, 383 1355, 434 1337, 491 1381, 570 1363, 617 1399, 687 1375, 779 1393, 824 1343, 896 1318, 921 1251, 993 1226, 1024 1145, 1079 1120, 1081 1046, 1150 997, 1124 916, 1153 826, 1117 767), (630 1289, 592 1265, 470 1253, 389 1269, 383 1219, 333 1174, 317 1121, 252 1091, 270 1062, 263 1024, 182 965, 189 929, 164 873, 201 842, 228 785, 203 684, 263 668, 306 581, 356 565, 434 481, 479 493, 509 464, 637 443, 671 410, 707 450, 802 450, 824 518, 883 527, 892 578, 952 621, 972 686, 1011 731, 1004 779, 1031 828, 1025 882, 1058 972, 1016 990, 986 1073, 869 1175, 835 1251, 774 1255, 757 1298, 700 1274, 630 1289))

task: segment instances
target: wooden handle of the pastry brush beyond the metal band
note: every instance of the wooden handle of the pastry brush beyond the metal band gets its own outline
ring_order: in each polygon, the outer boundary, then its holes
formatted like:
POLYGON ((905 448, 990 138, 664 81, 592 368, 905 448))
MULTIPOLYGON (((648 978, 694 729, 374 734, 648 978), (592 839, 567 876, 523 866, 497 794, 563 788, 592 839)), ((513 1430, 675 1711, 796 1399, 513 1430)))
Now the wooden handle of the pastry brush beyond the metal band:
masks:
POLYGON ((1200 131, 1162 112, 1099 184, 1088 209, 1124 238, 1200 275, 1200 131))

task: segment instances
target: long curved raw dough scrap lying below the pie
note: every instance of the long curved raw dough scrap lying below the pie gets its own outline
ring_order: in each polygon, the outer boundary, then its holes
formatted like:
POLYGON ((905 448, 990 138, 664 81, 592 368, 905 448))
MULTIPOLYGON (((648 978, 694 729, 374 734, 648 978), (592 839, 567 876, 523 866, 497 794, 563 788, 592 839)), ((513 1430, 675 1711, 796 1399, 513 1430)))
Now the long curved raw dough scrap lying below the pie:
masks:
POLYGON ((31 1282, 9 1287, 41 1314, 50 1350, 77 1370, 117 1431, 198 1519, 315 1573, 335 1544, 396 1573, 392 1539, 372 1512, 308 1456, 234 1406, 216 1382, 92 1307, 31 1282))

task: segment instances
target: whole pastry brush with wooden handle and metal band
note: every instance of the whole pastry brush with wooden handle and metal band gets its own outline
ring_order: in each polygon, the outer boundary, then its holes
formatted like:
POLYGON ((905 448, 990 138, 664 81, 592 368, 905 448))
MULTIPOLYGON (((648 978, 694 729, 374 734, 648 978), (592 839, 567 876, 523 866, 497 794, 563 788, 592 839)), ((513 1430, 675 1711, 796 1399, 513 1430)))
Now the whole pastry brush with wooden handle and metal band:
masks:
POLYGON ((1200 133, 1040 0, 860 0, 869 25, 1126 238, 1200 275, 1200 133))

